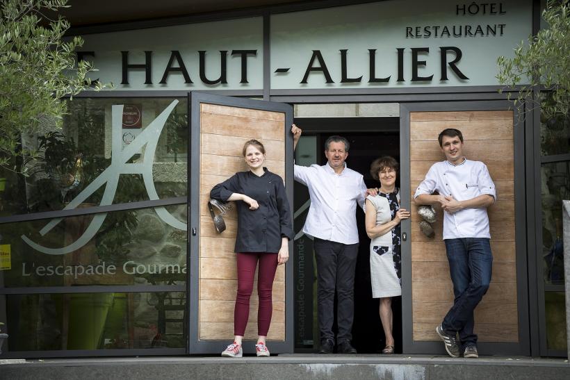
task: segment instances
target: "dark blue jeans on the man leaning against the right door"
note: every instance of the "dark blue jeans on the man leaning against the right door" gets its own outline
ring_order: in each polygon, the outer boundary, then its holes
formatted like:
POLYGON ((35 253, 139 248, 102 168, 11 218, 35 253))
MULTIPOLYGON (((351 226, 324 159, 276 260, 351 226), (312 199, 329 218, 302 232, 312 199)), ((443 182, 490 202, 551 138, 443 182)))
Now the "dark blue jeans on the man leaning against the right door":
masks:
POLYGON ((473 333, 473 311, 489 289, 493 254, 487 238, 446 239, 449 272, 455 299, 441 327, 459 333, 462 349, 477 343, 473 333))

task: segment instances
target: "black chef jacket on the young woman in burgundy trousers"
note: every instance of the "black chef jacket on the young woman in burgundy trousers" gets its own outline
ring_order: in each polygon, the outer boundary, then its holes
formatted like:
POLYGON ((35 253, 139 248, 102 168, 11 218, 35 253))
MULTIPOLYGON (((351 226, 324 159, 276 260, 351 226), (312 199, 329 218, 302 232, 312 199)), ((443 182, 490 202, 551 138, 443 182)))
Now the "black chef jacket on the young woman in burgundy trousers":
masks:
POLYGON ((238 210, 238 236, 236 252, 278 253, 282 238, 293 239, 291 208, 285 194, 283 180, 263 167, 263 175, 238 172, 215 185, 210 197, 227 201, 234 194, 247 195, 257 201, 259 208, 250 210, 244 201, 236 201, 238 210))

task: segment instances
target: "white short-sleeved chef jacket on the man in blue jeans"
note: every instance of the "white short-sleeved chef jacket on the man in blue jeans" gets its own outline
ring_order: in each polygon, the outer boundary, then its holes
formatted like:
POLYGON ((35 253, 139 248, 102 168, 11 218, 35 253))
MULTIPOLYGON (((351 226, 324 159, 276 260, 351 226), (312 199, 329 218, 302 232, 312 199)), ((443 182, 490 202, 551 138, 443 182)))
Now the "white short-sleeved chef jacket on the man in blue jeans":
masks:
MULTIPOLYGON (((422 194, 450 196, 466 201, 482 194, 497 199, 495 184, 487 165, 465 159, 453 165, 447 160, 434 163, 418 186, 414 198, 422 194)), ((443 240, 456 238, 491 238, 487 208, 464 208, 457 213, 443 213, 443 240)))

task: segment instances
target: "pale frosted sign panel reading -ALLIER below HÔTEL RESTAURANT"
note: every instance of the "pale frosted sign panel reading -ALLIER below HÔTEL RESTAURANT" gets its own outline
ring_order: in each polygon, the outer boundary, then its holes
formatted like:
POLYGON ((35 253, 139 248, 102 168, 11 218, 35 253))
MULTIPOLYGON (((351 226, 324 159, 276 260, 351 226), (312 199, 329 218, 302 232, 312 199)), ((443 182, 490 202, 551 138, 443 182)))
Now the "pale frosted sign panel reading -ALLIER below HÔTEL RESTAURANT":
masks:
POLYGON ((272 89, 498 85, 531 1, 381 1, 275 15, 272 89))

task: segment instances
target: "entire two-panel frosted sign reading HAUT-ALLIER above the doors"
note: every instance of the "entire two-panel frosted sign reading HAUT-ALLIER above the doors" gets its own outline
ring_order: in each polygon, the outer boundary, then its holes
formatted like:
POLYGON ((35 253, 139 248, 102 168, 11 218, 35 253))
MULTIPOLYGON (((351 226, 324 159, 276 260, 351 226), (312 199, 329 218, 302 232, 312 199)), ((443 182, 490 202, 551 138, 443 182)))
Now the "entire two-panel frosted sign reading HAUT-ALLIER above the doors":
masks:
MULTIPOLYGON (((498 85, 532 32, 530 0, 380 1, 272 15, 270 88, 498 85)), ((87 35, 78 53, 121 90, 260 90, 263 19, 87 35)))

